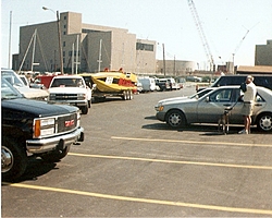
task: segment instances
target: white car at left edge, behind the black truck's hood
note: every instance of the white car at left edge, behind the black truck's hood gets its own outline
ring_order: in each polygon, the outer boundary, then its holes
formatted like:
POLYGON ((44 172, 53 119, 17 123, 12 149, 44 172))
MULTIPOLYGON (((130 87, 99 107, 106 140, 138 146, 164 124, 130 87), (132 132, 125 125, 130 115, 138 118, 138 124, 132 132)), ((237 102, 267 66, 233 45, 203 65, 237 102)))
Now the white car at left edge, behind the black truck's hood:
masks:
POLYGON ((46 100, 49 95, 47 90, 30 88, 29 86, 26 86, 13 70, 1 69, 1 78, 5 78, 26 98, 46 100))

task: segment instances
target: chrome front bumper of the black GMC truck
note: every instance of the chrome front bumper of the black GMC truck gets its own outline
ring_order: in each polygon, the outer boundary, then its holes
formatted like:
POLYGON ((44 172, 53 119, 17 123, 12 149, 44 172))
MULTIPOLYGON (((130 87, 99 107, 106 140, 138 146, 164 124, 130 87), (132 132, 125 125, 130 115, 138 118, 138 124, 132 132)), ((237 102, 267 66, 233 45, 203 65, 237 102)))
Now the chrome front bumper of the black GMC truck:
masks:
POLYGON ((26 149, 32 154, 41 154, 51 150, 58 150, 58 149, 61 150, 73 143, 83 141, 84 141, 84 129, 78 128, 71 133, 59 135, 55 137, 27 140, 26 149))

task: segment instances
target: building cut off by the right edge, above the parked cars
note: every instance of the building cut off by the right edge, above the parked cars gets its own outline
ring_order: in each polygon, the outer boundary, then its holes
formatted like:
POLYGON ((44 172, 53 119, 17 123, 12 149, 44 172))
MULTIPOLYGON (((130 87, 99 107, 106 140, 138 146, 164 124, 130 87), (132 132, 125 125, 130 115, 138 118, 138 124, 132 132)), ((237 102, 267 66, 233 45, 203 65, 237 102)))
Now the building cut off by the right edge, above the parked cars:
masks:
POLYGON ((256 46, 255 65, 272 65, 272 40, 267 40, 267 45, 256 46))

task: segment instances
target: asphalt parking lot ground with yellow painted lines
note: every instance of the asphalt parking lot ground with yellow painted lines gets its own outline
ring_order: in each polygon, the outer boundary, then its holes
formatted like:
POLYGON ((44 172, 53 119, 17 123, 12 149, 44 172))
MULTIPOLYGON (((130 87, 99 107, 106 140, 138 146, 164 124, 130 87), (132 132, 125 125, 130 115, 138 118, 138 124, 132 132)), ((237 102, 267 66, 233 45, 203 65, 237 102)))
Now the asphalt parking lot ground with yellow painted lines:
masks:
POLYGON ((85 142, 62 161, 30 160, 2 183, 2 217, 270 217, 272 134, 172 130, 154 105, 194 86, 92 104, 85 142))

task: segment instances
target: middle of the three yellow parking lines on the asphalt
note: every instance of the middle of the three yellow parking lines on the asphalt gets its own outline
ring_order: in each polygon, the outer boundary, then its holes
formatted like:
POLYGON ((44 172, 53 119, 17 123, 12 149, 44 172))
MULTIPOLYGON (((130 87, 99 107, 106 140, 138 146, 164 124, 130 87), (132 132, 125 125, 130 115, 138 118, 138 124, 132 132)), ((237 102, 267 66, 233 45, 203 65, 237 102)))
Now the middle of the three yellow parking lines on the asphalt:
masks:
POLYGON ((163 160, 163 159, 150 159, 139 157, 121 157, 121 156, 108 156, 108 155, 89 155, 69 153, 71 156, 91 157, 91 158, 106 158, 106 159, 123 159, 123 160, 136 160, 136 161, 149 161, 149 162, 163 162, 163 164, 177 164, 177 165, 197 165, 197 166, 210 166, 210 167, 227 167, 227 168, 248 168, 259 170, 272 170, 272 166, 249 166, 249 165, 227 165, 217 162, 196 162, 196 161, 181 161, 181 160, 163 160))

